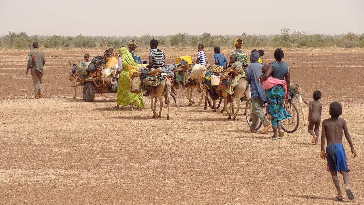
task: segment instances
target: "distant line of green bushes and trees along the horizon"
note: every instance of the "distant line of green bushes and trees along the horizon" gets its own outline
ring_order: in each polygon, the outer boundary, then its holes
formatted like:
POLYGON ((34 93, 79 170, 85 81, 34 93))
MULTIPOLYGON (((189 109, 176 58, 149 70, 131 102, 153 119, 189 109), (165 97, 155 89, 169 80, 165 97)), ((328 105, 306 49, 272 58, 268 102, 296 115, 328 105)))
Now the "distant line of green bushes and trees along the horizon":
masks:
MULTIPOLYGON (((322 48, 338 46, 341 48, 364 47, 364 34, 356 35, 352 32, 341 35, 308 34, 305 31, 293 31, 282 28, 280 34, 276 35, 202 35, 176 34, 169 36, 112 36, 105 37, 107 46, 119 48, 127 46, 129 40, 137 41, 139 47, 149 47, 151 39, 159 41, 159 47, 190 48, 197 47, 203 43, 205 47, 234 47, 236 38, 243 40, 243 47, 294 47, 294 48, 322 48)), ((37 41, 40 47, 44 48, 104 48, 102 36, 28 36, 25 32, 16 34, 9 32, 8 35, 0 38, 0 47, 8 49, 29 49, 32 42, 37 41)))

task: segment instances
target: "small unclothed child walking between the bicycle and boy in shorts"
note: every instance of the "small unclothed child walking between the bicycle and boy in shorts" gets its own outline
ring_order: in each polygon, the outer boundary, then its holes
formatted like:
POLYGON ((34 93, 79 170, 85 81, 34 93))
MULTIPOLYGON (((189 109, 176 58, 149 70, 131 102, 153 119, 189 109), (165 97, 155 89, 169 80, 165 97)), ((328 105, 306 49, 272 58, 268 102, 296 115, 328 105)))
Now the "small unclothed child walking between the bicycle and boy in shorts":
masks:
POLYGON ((313 101, 310 102, 310 108, 308 110, 308 132, 312 135, 312 144, 318 144, 318 133, 320 131, 321 123, 321 111, 322 105, 318 100, 321 99, 321 92, 316 90, 313 92, 313 101), (313 132, 313 126, 315 127, 315 132, 313 132))

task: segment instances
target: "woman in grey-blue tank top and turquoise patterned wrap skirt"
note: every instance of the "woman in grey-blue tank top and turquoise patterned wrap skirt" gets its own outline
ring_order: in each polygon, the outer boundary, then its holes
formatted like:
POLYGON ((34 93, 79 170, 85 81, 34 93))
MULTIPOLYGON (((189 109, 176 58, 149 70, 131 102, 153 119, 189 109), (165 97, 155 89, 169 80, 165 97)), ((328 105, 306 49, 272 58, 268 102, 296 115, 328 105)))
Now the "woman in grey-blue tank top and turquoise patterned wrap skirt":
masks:
POLYGON ((272 127, 274 135, 268 139, 277 140, 279 137, 284 136, 282 131, 281 120, 291 118, 292 116, 284 109, 284 101, 286 97, 286 84, 290 83, 290 70, 286 62, 282 61, 284 53, 281 49, 274 51, 275 62, 269 63, 268 69, 265 74, 260 78, 260 81, 265 81, 269 76, 278 78, 280 80, 286 80, 283 85, 276 85, 265 91, 265 96, 268 103, 268 109, 272 116, 272 127), (279 132, 279 135, 278 135, 279 132))

